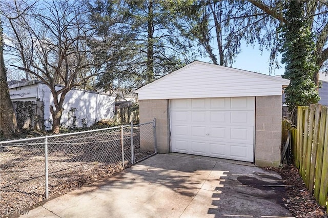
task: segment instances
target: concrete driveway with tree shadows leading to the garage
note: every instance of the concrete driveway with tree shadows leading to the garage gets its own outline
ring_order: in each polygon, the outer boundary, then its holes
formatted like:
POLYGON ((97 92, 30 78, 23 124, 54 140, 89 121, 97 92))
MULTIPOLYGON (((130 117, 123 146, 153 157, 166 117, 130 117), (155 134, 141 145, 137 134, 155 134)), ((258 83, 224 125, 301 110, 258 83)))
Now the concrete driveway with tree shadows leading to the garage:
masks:
POLYGON ((275 172, 220 159, 157 154, 22 217, 293 217, 275 172))

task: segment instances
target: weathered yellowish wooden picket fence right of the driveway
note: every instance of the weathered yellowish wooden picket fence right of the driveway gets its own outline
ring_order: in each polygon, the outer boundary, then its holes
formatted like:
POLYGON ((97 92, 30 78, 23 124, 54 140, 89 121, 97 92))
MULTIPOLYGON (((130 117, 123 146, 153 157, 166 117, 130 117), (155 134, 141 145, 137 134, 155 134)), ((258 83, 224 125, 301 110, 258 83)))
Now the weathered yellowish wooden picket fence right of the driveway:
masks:
POLYGON ((299 106, 297 135, 295 130, 291 131, 294 163, 306 188, 323 206, 326 206, 328 194, 327 117, 327 106, 299 106))

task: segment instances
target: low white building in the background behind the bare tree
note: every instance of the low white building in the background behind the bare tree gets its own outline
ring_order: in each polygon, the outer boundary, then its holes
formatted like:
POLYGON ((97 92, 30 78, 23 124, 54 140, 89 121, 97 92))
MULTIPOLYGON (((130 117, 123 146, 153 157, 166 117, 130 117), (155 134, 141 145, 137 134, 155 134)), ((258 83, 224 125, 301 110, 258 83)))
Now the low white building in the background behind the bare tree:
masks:
MULTIPOLYGON (((57 86, 60 89, 60 86, 57 86)), ((44 103, 45 129, 52 127, 50 105, 53 96, 50 88, 40 81, 20 82, 9 86, 12 101, 42 101, 44 103)), ((70 126, 72 116, 76 117, 76 126, 90 126, 101 119, 114 118, 115 97, 97 92, 72 89, 65 97, 64 112, 60 123, 70 126), (70 116, 70 117, 69 117, 70 116)))

